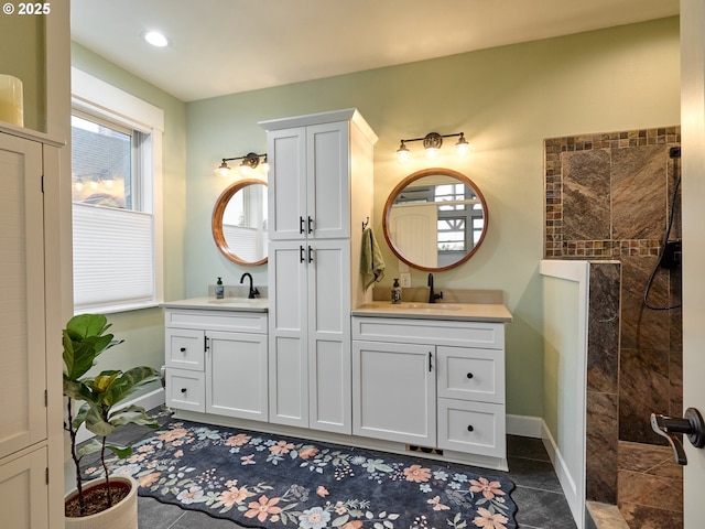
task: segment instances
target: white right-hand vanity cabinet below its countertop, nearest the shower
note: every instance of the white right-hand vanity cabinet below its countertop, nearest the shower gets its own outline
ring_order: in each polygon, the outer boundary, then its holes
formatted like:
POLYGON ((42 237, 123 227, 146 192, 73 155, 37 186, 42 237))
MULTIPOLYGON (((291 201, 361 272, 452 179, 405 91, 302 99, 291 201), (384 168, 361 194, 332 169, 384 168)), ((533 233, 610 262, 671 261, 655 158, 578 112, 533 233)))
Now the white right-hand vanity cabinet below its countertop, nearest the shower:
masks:
POLYGON ((351 322, 355 434, 506 466, 503 323, 351 322))

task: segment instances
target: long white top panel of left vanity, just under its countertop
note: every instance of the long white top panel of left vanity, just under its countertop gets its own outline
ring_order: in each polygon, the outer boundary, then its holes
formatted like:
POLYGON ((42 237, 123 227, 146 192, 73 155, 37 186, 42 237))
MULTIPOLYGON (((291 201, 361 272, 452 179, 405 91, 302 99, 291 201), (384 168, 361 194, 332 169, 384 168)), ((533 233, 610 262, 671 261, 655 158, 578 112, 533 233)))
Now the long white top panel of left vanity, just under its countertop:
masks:
POLYGON ((164 325, 178 328, 267 334, 267 313, 167 309, 164 312, 164 325))

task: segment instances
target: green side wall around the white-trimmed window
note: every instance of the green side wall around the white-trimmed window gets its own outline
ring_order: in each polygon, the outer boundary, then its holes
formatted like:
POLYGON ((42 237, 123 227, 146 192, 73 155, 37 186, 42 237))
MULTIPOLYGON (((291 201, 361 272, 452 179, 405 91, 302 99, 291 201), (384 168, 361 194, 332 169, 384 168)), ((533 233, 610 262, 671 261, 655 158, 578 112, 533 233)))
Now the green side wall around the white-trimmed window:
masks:
MULTIPOLYGON (((184 296, 184 222, 186 208, 186 106, 183 101, 72 43, 72 65, 164 110, 163 212, 164 296, 184 296)), ((108 314, 111 332, 124 339, 100 358, 98 368, 126 368, 164 364, 164 319, 161 309, 108 314)))

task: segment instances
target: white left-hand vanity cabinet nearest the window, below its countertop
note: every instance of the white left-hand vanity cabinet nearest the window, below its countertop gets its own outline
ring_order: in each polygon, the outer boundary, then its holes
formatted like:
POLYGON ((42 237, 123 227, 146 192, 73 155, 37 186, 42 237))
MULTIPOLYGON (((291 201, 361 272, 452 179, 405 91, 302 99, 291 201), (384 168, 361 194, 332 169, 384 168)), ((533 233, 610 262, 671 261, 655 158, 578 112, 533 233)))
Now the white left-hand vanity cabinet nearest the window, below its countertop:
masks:
POLYGON ((166 406, 268 420, 267 313, 166 309, 166 406))

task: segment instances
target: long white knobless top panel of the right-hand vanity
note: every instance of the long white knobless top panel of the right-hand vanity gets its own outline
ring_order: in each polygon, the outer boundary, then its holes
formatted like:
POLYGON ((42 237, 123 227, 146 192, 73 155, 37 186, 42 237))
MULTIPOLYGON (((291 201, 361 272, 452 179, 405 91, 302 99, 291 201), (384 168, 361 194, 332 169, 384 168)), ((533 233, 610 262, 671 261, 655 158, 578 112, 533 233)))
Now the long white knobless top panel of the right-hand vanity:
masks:
POLYGON ((505 325, 491 322, 352 317, 352 339, 505 348, 505 325))

